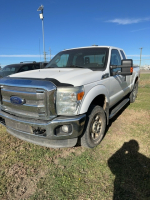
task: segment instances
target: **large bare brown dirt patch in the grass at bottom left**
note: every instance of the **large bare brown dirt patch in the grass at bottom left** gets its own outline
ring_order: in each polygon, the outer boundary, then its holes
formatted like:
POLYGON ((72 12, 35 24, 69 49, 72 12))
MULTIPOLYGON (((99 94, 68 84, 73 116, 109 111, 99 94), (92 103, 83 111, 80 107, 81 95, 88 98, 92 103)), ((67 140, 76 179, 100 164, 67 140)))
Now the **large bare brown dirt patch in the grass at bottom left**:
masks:
POLYGON ((14 164, 5 172, 9 180, 7 198, 15 200, 29 198, 35 193, 37 182, 45 176, 47 171, 46 168, 43 170, 29 169, 23 163, 14 164), (32 174, 30 176, 29 171, 32 174))

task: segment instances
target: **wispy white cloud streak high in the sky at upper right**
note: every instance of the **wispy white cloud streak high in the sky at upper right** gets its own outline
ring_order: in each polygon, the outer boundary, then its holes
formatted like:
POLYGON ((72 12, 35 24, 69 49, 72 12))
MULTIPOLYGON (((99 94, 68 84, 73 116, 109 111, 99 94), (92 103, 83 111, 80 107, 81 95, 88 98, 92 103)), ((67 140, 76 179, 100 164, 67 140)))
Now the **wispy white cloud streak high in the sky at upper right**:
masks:
POLYGON ((140 22, 143 22, 143 21, 150 21, 150 17, 147 17, 147 18, 137 18, 137 19, 129 19, 129 18, 121 19, 121 18, 116 18, 116 19, 108 20, 106 22, 117 23, 117 24, 121 24, 121 25, 127 25, 127 24, 140 23, 140 22))

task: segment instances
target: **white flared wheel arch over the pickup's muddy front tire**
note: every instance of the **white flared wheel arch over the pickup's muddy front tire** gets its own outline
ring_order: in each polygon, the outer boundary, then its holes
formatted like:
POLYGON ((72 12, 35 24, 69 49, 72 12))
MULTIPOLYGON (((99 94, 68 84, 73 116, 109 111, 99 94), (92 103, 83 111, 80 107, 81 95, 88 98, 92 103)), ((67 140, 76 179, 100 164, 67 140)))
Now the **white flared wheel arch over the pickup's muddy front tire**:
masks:
MULTIPOLYGON (((86 88, 85 88, 86 90, 86 88)), ((80 109, 79 109, 79 114, 83 114, 86 113, 92 103, 92 101, 99 95, 105 95, 106 98, 106 102, 109 105, 109 93, 108 93, 108 89, 104 86, 104 85, 96 85, 94 87, 92 87, 86 94, 86 96, 84 97, 80 109)))

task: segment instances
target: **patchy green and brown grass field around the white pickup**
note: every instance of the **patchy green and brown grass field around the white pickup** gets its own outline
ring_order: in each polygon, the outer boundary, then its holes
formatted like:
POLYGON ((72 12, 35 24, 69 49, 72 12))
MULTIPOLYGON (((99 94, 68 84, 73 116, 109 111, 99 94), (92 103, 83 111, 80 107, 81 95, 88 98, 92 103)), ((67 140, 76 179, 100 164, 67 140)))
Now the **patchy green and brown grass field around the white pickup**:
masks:
POLYGON ((149 200, 150 74, 94 149, 44 148, 0 126, 0 199, 149 200))

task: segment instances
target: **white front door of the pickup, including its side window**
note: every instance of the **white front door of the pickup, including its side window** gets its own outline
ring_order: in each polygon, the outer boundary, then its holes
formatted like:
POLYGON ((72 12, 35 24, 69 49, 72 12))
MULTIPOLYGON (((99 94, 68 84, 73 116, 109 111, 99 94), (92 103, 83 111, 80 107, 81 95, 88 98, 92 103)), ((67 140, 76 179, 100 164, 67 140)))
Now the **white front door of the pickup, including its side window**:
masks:
MULTIPOLYGON (((121 56, 117 49, 111 50, 110 66, 121 65, 121 56)), ((112 75, 112 72, 121 71, 121 68, 111 69, 110 68, 110 82, 109 82, 109 98, 110 107, 116 104, 126 95, 126 77, 122 75, 112 75)))

